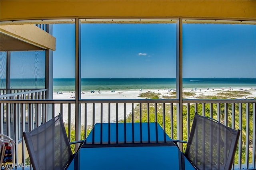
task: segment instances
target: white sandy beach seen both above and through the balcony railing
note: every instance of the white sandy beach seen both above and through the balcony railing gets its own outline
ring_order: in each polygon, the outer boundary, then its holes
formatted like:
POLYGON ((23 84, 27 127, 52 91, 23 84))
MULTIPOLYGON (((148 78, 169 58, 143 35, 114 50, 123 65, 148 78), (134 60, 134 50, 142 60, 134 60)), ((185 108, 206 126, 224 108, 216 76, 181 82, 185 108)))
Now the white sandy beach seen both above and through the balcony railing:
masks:
MULTIPOLYGON (((216 96, 220 92, 231 92, 231 91, 246 91, 250 92, 250 94, 245 94, 243 97, 238 97, 238 99, 245 99, 245 98, 255 98, 256 97, 256 90, 254 88, 220 88, 220 89, 184 89, 183 92, 192 92, 194 96, 186 96, 187 99, 196 99, 199 96, 216 96)), ((115 92, 111 92, 111 90, 104 90, 104 91, 95 91, 91 93, 90 91, 83 91, 81 94, 82 99, 143 99, 138 97, 139 94, 148 92, 146 90, 116 90, 115 92)), ((162 96, 171 96, 168 90, 162 89, 154 89, 150 90, 150 92, 155 92, 160 94, 160 98, 162 96)), ((172 94, 173 96, 173 94, 172 94)), ((58 99, 74 99, 75 93, 74 92, 62 92, 62 94, 57 94, 54 92, 53 98, 55 100, 58 99)), ((63 119, 64 122, 68 123, 68 104, 63 105, 63 119)), ((110 121, 116 121, 116 104, 110 104, 110 121)), ((75 106, 72 104, 70 106, 71 110, 71 123, 75 120, 75 106)), ((132 104, 126 104, 126 111, 124 112, 124 104, 118 104, 118 120, 124 119, 124 115, 130 114, 132 111, 132 104)), ((56 113, 60 112, 60 108, 56 105, 56 113)), ((92 112, 93 112, 93 105, 87 104, 87 125, 92 124, 92 112)), ((100 123, 100 104, 95 104, 95 123, 100 123)), ((108 122, 108 104, 102 104, 102 119, 103 122, 108 122)), ((81 125, 84 125, 85 122, 85 104, 81 104, 81 125)))

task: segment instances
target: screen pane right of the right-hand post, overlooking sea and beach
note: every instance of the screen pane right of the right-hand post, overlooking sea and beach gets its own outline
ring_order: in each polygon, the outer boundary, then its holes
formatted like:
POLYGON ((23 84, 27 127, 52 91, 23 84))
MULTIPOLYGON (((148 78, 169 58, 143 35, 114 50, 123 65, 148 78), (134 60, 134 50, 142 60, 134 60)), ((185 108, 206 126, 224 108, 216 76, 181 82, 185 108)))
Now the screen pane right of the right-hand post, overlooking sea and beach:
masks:
POLYGON ((256 25, 183 24, 184 98, 255 98, 256 25))

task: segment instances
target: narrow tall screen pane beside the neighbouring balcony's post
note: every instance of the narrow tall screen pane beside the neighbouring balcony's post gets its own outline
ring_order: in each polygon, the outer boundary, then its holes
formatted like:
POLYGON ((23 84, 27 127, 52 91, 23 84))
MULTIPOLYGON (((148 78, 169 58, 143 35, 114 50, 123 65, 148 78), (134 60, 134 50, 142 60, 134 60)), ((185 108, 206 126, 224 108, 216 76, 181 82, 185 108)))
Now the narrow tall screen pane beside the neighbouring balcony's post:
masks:
POLYGON ((52 31, 56 37, 56 51, 53 52, 53 98, 75 98, 75 24, 53 24, 52 31))

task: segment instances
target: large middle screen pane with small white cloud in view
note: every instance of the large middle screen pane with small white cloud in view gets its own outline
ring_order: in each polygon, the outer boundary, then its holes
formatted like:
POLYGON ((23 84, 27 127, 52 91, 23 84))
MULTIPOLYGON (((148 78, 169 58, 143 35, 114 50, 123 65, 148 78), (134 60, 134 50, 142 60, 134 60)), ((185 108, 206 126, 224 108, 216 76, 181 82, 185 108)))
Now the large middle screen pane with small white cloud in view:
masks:
POLYGON ((176 98, 176 24, 81 24, 81 72, 82 98, 176 98))

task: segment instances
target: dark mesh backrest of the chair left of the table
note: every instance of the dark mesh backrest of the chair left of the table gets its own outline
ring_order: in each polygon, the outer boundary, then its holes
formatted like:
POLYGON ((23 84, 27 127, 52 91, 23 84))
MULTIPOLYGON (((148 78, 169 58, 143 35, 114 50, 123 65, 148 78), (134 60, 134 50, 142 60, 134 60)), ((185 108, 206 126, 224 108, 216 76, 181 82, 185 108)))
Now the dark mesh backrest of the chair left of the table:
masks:
POLYGON ((60 114, 23 136, 34 170, 63 170, 72 159, 60 114))

